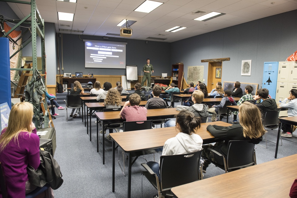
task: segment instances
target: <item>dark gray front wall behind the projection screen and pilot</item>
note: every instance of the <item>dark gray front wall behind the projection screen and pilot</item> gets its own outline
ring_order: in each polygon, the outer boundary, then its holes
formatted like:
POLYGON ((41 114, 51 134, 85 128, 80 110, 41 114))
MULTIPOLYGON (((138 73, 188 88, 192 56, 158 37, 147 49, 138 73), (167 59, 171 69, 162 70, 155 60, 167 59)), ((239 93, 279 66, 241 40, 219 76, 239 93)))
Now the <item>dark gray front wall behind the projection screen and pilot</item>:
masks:
MULTIPOLYGON (((63 67, 65 73, 88 72, 94 75, 125 75, 125 69, 85 69, 85 51, 84 42, 82 39, 98 40, 98 41, 113 41, 113 42, 127 42, 126 46, 126 64, 137 65, 138 75, 141 75, 143 65, 146 64, 146 59, 150 58, 151 64, 154 66, 154 75, 161 76, 161 73, 168 73, 171 75, 170 62, 170 43, 153 42, 135 39, 121 39, 102 37, 62 34, 59 39, 59 58, 61 55, 61 43, 63 43, 63 67), (63 40, 63 42, 61 41, 63 40)), ((60 65, 61 59, 60 59, 60 65)))

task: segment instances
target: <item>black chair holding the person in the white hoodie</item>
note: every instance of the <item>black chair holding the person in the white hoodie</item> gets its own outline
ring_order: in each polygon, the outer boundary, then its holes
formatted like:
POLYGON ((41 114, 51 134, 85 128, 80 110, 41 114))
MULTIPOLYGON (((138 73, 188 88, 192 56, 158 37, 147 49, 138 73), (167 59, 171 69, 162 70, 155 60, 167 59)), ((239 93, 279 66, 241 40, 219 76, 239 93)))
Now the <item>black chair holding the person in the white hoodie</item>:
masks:
POLYGON ((171 188, 202 179, 201 153, 202 150, 188 154, 161 156, 160 178, 145 163, 141 165, 146 171, 141 174, 158 190, 158 197, 173 197, 171 188))

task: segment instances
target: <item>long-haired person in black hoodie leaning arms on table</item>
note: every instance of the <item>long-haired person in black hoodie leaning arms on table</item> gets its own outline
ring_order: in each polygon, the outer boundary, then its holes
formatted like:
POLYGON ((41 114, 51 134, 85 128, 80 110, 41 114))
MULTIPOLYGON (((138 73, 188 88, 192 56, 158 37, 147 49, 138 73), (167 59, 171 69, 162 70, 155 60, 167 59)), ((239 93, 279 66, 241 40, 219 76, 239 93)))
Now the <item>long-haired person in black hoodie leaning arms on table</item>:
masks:
MULTIPOLYGON (((260 141, 262 141, 262 136, 266 131, 262 125, 260 110, 256 107, 256 105, 253 105, 249 102, 244 102, 239 106, 238 115, 239 124, 233 124, 231 126, 207 126, 206 129, 214 137, 224 141, 217 142, 215 145, 202 146, 203 157, 213 159, 217 164, 224 166, 223 160, 217 156, 214 156, 213 152, 209 151, 208 148, 212 148, 226 157, 228 153, 228 142, 230 140, 251 140, 253 144, 258 144, 260 141)), ((206 172, 206 168, 210 163, 210 161, 204 160, 203 172, 206 172)))

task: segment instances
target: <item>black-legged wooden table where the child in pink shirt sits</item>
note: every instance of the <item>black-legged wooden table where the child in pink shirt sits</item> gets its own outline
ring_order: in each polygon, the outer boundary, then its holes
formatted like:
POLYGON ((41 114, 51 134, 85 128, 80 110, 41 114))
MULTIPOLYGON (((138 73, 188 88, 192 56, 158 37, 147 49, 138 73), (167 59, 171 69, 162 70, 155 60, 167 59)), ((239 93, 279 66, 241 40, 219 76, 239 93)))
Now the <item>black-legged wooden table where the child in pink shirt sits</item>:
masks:
MULTIPOLYGON (((167 108, 167 109, 149 109, 146 115, 147 120, 165 120, 168 118, 174 118, 174 115, 178 114, 179 111, 176 111, 176 108, 167 108)), ((105 126, 109 123, 122 123, 123 120, 120 117, 119 111, 114 112, 97 112, 97 152, 99 152, 99 135, 98 135, 98 123, 99 120, 102 121, 102 126, 105 126)), ((164 129, 164 128, 163 128, 164 129)), ((111 135, 111 134, 110 134, 111 135)), ((105 163, 105 143, 104 143, 104 132, 102 132, 102 147, 103 147, 103 164, 105 163)))

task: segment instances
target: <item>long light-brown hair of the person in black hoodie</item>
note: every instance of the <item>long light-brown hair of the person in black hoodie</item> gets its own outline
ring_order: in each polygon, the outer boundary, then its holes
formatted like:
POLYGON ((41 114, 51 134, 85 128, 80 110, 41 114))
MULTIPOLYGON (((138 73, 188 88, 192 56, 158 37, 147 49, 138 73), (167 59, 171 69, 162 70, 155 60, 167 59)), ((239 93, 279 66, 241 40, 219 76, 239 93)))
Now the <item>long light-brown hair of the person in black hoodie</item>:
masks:
POLYGON ((243 128, 244 137, 257 139, 265 134, 261 117, 257 105, 244 102, 239 106, 239 122, 243 128))

